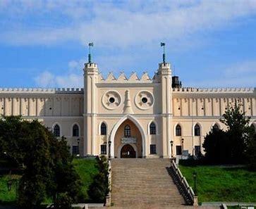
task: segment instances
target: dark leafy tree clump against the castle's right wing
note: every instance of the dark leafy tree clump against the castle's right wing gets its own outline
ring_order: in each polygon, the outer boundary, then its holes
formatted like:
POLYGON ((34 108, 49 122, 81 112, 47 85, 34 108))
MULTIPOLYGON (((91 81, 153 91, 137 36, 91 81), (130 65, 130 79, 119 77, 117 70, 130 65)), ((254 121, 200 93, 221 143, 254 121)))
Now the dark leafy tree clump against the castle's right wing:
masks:
POLYGON ((224 132, 212 129, 205 137, 205 158, 209 163, 245 163, 248 141, 250 139, 250 118, 235 103, 226 108, 220 121, 226 125, 224 132))

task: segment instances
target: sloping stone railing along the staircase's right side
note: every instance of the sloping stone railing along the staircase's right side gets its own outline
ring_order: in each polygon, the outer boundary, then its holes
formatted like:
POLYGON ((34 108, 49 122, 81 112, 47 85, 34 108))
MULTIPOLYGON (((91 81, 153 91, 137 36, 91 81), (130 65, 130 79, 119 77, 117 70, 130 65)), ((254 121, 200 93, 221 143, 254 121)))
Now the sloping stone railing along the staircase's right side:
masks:
POLYGON ((193 205, 197 206, 198 205, 198 198, 195 195, 192 187, 189 186, 185 177, 183 177, 183 175, 181 173, 181 170, 178 169, 174 160, 171 160, 171 170, 173 171, 173 174, 176 175, 176 179, 178 180, 178 183, 183 187, 183 191, 185 192, 185 196, 187 196, 190 199, 190 202, 192 202, 193 205))

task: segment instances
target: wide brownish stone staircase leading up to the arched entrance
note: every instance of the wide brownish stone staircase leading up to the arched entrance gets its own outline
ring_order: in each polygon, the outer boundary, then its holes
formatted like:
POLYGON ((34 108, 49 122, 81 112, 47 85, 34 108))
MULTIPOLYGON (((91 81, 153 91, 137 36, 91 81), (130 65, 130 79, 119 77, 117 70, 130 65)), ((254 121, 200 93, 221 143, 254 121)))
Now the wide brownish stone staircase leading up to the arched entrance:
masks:
POLYGON ((183 208, 185 201, 166 167, 169 159, 113 159, 114 208, 183 208))

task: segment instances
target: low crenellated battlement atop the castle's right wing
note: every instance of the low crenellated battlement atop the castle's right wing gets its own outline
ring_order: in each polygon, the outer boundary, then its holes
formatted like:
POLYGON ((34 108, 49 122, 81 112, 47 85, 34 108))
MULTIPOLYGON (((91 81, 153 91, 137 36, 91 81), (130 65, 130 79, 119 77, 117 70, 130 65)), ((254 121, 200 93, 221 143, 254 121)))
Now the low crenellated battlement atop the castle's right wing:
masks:
POLYGON ((195 92, 195 93, 255 93, 256 88, 173 88, 173 92, 186 93, 186 92, 195 92))

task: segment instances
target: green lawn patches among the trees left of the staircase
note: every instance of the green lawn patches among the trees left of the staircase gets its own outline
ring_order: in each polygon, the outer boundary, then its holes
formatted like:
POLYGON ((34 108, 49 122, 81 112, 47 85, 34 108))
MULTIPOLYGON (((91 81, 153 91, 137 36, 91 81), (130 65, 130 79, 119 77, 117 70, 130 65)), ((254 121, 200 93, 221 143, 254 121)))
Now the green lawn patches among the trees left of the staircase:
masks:
MULTIPOLYGON (((76 158, 73 160, 75 165, 75 170, 78 172, 83 184, 83 194, 85 195, 85 200, 90 201, 87 189, 92 183, 93 177, 98 173, 97 168, 95 168, 96 160, 92 158, 76 158)), ((11 175, 13 179, 19 179, 19 175, 11 175)), ((0 203, 13 203, 16 200, 16 184, 13 183, 11 191, 8 191, 7 182, 9 175, 0 175, 0 203)), ((46 203, 50 203, 49 199, 46 203)))

